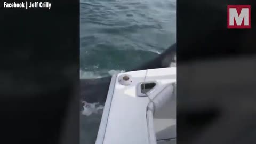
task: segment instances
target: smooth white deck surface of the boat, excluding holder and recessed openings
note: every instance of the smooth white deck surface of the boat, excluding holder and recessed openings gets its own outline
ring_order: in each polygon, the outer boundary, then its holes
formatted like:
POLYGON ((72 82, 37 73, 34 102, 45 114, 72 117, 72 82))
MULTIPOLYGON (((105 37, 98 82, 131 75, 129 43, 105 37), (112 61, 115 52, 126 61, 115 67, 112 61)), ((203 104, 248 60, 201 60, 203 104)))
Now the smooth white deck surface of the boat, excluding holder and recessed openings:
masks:
MULTIPOLYGON (((137 86, 144 81, 156 81, 156 89, 151 95, 157 94, 166 85, 176 82, 176 68, 131 71, 113 76, 103 111, 97 144, 149 143, 146 117, 149 98, 137 96, 137 86), (130 85, 121 85, 118 82, 118 77, 123 74, 132 76, 130 85)), ((155 114, 154 129, 157 140, 159 140, 157 143, 171 143, 172 140, 166 142, 165 140, 160 141, 160 139, 176 137, 175 99, 163 107, 161 113, 155 114)))

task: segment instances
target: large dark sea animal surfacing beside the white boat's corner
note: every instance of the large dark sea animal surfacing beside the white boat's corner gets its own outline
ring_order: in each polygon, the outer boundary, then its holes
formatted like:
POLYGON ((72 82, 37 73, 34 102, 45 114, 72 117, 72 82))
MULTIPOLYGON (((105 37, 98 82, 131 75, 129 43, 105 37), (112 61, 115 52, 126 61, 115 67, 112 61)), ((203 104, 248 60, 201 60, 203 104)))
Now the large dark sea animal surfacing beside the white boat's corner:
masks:
MULTIPOLYGON (((158 57, 143 63, 139 67, 127 71, 156 69, 171 67, 176 62, 176 43, 172 44, 164 52, 158 55, 158 57)), ((81 108, 85 103, 100 103, 103 104, 106 101, 107 93, 111 81, 111 76, 96 78, 96 79, 81 79, 80 80, 80 97, 81 108)))

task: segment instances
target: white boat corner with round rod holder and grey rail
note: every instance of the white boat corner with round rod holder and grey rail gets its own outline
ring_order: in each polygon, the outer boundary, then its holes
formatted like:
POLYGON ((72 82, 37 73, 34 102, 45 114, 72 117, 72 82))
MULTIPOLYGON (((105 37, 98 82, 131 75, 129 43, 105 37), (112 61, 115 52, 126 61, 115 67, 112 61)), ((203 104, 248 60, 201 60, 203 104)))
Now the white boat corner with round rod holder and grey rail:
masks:
POLYGON ((113 75, 95 143, 176 143, 176 67, 113 75))

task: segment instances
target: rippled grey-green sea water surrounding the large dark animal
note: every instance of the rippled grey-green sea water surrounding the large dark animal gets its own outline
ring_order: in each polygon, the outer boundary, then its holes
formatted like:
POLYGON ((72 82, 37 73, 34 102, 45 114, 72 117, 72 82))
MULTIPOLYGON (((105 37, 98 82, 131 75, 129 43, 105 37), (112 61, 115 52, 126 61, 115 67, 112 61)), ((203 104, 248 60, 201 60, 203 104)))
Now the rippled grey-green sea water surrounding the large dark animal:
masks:
MULTIPOLYGON (((136 67, 176 41, 174 0, 81 0, 80 7, 81 78, 136 67)), ((81 116, 81 144, 95 143, 100 118, 81 116)))

